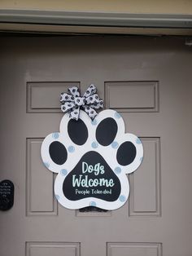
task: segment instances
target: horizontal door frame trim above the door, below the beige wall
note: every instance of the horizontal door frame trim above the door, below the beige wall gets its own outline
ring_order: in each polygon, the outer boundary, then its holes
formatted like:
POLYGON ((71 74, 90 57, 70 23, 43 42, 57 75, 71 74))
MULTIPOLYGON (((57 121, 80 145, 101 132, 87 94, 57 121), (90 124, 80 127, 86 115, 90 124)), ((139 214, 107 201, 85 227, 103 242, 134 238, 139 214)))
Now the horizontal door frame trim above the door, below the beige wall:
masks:
POLYGON ((0 10, 0 32, 192 36, 192 15, 0 10))

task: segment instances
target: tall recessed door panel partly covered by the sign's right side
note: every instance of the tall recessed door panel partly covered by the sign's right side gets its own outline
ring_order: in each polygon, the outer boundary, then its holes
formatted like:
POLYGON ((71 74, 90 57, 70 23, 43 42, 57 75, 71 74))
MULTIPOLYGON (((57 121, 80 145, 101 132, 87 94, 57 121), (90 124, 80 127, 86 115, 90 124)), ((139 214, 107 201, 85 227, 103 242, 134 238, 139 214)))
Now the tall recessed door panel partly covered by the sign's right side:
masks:
POLYGON ((141 139, 145 158, 139 170, 129 175, 129 216, 160 216, 160 139, 141 139))

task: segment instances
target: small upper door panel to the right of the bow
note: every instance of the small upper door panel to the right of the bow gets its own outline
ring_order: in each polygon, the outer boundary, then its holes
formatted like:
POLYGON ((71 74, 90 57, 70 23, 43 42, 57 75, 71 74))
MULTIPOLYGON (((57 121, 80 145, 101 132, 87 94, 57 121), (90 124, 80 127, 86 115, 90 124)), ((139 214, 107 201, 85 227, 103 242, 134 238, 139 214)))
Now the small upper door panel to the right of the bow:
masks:
POLYGON ((119 112, 159 111, 159 82, 105 82, 105 89, 106 108, 119 112))

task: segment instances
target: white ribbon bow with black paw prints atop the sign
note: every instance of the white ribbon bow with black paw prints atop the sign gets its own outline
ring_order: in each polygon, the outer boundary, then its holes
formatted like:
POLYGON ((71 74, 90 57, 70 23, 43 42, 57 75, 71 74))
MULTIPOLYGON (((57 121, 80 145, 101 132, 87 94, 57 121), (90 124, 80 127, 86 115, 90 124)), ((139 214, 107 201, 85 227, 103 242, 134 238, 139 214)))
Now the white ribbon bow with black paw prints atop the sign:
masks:
POLYGON ((69 94, 61 93, 61 110, 63 113, 69 112, 69 117, 72 119, 78 120, 82 108, 93 120, 98 114, 94 108, 103 108, 103 99, 98 98, 97 88, 93 84, 87 88, 83 97, 81 97, 79 88, 76 86, 68 88, 68 91, 69 94))

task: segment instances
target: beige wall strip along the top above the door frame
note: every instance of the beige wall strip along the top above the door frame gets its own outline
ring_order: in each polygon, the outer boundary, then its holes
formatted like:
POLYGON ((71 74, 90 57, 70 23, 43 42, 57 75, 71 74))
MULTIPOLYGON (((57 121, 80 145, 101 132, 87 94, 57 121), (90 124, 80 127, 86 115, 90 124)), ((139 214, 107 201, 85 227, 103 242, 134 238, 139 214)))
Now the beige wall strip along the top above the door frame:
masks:
POLYGON ((192 14, 192 0, 0 0, 0 9, 192 14))

